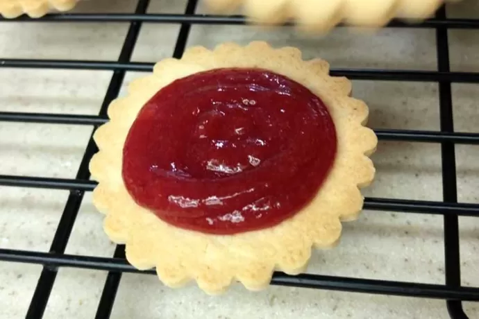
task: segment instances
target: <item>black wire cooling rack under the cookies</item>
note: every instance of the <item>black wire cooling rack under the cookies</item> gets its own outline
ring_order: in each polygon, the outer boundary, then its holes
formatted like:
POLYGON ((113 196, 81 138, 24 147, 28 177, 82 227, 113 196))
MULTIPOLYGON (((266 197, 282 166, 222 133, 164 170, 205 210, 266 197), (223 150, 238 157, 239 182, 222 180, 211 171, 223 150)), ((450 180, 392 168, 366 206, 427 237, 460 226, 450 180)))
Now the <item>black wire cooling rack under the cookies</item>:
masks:
MULTIPOLYGON (((33 69, 90 69, 114 71, 110 84, 101 104, 98 116, 74 114, 36 114, 19 112, 0 112, 0 121, 61 123, 66 125, 83 124, 95 128, 107 121, 106 110, 110 102, 117 97, 126 71, 151 71, 153 63, 131 62, 137 37, 143 22, 160 24, 180 24, 178 40, 174 48, 174 57, 180 58, 185 50, 187 37, 192 24, 245 24, 244 17, 195 14, 198 0, 187 2, 183 15, 146 14, 149 0, 139 0, 133 14, 51 14, 41 19, 19 17, 8 21, 56 21, 60 22, 124 22, 130 25, 117 61, 77 61, 77 60, 23 60, 0 59, 2 68, 33 69)), ((330 289, 359 293, 401 295, 416 298, 437 298, 445 300, 448 312, 453 319, 467 319, 462 309, 462 301, 479 301, 479 287, 464 287, 460 281, 460 238, 458 216, 479 217, 479 203, 465 204, 457 202, 455 144, 479 144, 479 133, 456 133, 453 128, 453 105, 451 83, 479 83, 479 73, 453 72, 449 69, 448 29, 479 29, 479 19, 447 19, 445 8, 437 12, 435 19, 410 26, 401 21, 392 21, 389 26, 402 28, 435 28, 437 46, 437 71, 382 70, 382 69, 333 69, 335 76, 347 76, 355 80, 394 80, 439 83, 439 132, 421 130, 376 130, 381 140, 428 142, 441 144, 442 149, 442 202, 422 200, 396 200, 390 198, 366 198, 364 209, 417 214, 437 214, 444 216, 444 253, 446 284, 423 284, 410 282, 392 282, 373 279, 333 277, 303 274, 289 276, 275 273, 272 284, 304 288, 330 289)), ((88 162, 96 145, 90 138, 85 155, 74 180, 61 178, 38 178, 13 175, 0 175, 0 185, 11 187, 37 187, 44 189, 67 189, 70 191, 56 234, 49 252, 0 249, 1 261, 42 264, 43 270, 28 307, 26 318, 42 318, 49 295, 55 282, 58 268, 77 267, 96 270, 108 270, 101 300, 95 318, 109 318, 115 302, 115 295, 122 273, 140 272, 129 265, 125 259, 124 246, 118 245, 112 258, 66 255, 65 248, 75 223, 78 209, 85 191, 92 191, 95 182, 89 180, 88 162)), ((142 273, 154 274, 154 270, 142 273)))

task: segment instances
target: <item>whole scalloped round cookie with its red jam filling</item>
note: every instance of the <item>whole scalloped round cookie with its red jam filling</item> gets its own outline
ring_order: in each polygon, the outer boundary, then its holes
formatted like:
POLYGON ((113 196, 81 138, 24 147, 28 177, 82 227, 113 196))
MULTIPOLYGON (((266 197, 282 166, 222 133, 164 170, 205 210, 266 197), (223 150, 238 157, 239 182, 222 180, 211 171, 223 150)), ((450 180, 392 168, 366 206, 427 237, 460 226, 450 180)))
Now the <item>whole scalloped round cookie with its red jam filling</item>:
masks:
POLYGON ((208 294, 296 275, 358 218, 377 138, 328 63, 265 42, 195 46, 134 80, 94 133, 104 230, 161 282, 208 294))

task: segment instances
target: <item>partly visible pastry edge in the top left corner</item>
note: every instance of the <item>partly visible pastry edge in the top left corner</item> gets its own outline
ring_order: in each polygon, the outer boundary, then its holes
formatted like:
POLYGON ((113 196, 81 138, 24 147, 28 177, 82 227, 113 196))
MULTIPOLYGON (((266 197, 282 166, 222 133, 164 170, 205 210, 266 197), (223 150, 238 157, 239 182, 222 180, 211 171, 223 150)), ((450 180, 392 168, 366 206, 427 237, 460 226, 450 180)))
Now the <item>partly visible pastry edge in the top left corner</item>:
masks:
POLYGON ((12 19, 24 13, 38 18, 51 10, 72 10, 79 0, 0 0, 0 14, 12 19))

